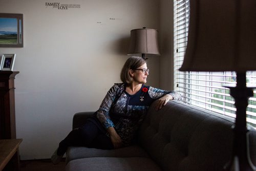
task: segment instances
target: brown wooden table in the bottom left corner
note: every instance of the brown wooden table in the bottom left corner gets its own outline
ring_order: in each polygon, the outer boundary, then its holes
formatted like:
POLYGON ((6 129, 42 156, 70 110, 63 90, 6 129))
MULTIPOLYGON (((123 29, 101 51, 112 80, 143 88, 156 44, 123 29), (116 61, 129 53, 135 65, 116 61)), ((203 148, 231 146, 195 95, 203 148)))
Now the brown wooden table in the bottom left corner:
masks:
POLYGON ((20 170, 18 146, 22 139, 0 140, 0 171, 20 170))

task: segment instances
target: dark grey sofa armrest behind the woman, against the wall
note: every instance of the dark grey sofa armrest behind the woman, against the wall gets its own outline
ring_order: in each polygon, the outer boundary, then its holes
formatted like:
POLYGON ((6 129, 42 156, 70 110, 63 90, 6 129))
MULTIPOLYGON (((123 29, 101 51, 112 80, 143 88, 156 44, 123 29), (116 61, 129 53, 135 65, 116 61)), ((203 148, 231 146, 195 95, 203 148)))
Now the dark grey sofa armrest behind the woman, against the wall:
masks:
POLYGON ((95 112, 79 112, 73 116, 72 129, 82 126, 86 122, 86 119, 91 117, 95 112))

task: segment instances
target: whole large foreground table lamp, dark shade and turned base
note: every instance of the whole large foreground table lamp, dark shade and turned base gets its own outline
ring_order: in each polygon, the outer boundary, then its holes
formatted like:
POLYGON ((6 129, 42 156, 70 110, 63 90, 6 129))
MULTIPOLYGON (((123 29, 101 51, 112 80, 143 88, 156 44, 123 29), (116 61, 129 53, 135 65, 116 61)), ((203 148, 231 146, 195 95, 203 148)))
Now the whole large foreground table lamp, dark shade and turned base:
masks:
POLYGON ((253 88, 246 87, 246 71, 256 70, 256 1, 191 0, 187 48, 179 70, 237 73, 236 87, 228 87, 237 111, 232 159, 225 168, 255 170, 246 126, 253 88))

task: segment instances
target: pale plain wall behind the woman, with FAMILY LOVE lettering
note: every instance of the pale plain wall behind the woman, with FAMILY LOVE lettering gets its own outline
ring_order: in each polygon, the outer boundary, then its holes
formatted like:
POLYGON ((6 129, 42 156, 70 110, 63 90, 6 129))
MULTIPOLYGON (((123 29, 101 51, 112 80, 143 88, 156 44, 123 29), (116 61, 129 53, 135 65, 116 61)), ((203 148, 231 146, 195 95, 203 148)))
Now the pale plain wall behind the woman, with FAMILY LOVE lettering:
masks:
MULTIPOLYGON (((76 112, 95 111, 120 82, 130 30, 159 29, 157 0, 59 0, 78 9, 46 8, 39 0, 0 0, 2 13, 24 14, 24 48, 14 71, 17 138, 22 160, 50 158, 71 131, 76 112), (110 19, 115 18, 115 19, 110 19)), ((159 87, 159 57, 148 60, 148 84, 159 87)))

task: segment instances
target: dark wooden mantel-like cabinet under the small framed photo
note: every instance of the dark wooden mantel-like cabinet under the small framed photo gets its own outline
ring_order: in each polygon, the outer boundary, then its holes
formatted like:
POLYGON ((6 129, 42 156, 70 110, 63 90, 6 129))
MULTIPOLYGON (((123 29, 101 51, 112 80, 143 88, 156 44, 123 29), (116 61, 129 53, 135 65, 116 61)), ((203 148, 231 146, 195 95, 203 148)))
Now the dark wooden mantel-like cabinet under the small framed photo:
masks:
POLYGON ((0 71, 0 139, 15 139, 14 79, 18 71, 0 71))

